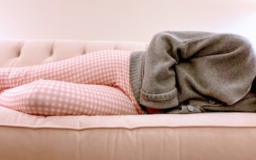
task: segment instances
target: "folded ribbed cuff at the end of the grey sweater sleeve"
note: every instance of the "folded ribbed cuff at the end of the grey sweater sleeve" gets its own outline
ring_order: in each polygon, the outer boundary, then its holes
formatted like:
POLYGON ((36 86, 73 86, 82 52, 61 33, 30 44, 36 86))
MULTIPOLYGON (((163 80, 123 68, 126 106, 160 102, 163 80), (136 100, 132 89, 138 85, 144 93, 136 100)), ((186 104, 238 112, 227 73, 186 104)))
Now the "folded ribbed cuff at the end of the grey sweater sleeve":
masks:
POLYGON ((155 109, 173 108, 179 105, 177 99, 177 89, 173 89, 168 93, 149 94, 141 89, 141 96, 139 102, 143 106, 155 109))

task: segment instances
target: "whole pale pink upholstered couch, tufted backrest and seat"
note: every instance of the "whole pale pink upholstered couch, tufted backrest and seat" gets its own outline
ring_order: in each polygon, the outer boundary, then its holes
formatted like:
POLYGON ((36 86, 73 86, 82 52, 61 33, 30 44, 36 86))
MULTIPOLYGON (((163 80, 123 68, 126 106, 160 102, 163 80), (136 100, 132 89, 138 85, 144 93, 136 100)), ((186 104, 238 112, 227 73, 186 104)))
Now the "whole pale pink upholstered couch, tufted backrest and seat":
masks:
MULTIPOLYGON (((0 41, 0 67, 37 65, 141 42, 0 41)), ((0 159, 256 159, 256 113, 33 116, 0 106, 0 159)))

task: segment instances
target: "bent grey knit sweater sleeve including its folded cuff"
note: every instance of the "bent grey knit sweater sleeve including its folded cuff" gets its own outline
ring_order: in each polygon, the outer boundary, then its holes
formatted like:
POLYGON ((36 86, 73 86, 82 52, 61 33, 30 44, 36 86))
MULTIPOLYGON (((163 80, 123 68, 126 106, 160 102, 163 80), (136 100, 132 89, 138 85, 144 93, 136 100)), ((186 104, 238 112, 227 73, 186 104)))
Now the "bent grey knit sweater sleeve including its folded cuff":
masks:
POLYGON ((174 65, 179 63, 183 43, 169 33, 154 35, 145 54, 140 103, 150 108, 178 106, 174 65))

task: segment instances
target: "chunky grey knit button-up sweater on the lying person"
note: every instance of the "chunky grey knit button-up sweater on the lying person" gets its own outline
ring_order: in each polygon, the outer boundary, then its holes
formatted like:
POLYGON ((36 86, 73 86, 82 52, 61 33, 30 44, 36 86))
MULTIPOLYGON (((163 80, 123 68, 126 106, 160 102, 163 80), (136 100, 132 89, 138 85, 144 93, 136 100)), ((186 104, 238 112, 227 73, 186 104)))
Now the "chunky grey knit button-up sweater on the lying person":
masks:
POLYGON ((130 59, 138 103, 171 113, 256 112, 250 91, 255 76, 250 42, 227 33, 157 33, 146 51, 132 52, 130 59))

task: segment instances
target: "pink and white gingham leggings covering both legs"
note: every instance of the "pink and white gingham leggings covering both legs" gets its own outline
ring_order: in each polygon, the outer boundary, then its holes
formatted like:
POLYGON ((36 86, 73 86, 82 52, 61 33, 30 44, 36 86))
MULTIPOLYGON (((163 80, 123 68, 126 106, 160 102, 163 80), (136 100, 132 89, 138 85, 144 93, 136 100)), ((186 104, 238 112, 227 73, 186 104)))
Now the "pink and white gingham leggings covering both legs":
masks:
POLYGON ((100 50, 0 69, 0 106, 35 115, 143 114, 129 80, 130 52, 100 50))

